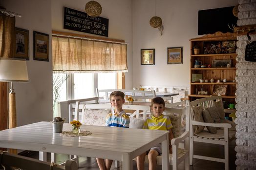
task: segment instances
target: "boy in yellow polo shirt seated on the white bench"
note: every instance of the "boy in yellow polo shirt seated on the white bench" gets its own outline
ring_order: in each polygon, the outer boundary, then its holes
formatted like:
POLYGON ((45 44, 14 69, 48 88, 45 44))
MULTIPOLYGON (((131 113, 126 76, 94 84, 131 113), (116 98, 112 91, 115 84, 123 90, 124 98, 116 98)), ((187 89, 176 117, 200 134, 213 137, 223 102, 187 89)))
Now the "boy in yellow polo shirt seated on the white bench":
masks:
MULTIPOLYGON (((153 115, 150 116, 144 123, 143 129, 150 130, 164 130, 169 131, 169 151, 172 153, 171 139, 173 138, 173 133, 171 131, 172 125, 169 116, 164 116, 163 112, 165 110, 165 101, 161 97, 155 97, 151 100, 151 112, 153 115)), ((156 156, 161 155, 162 147, 161 143, 154 146, 149 150, 149 170, 156 169, 156 156)), ((144 159, 147 153, 142 153, 137 156, 137 168, 138 170, 144 170, 144 159)))

